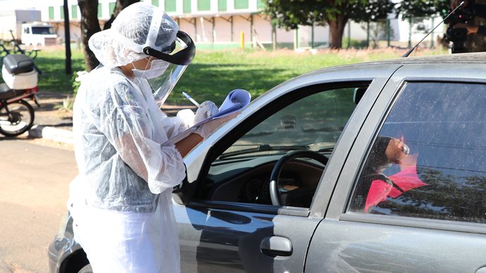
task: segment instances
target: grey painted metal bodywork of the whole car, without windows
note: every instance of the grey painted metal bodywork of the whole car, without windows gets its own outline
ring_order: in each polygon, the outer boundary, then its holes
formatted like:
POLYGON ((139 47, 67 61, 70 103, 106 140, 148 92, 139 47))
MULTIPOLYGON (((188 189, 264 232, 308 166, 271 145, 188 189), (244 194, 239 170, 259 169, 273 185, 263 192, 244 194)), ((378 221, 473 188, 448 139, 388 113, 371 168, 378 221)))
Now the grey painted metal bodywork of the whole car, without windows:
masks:
MULTIPOLYGON (((187 155, 187 184, 197 185, 214 148, 261 109, 278 107, 274 101, 317 84, 370 82, 330 155, 309 209, 199 201, 191 196, 182 201, 174 195, 182 272, 484 270, 485 224, 346 212, 370 144, 404 81, 486 83, 483 63, 486 53, 325 68, 259 96, 187 155), (292 243, 292 255, 263 253, 261 247, 268 237, 292 243)), ((184 193, 184 187, 180 191, 184 193)), ((49 248, 51 272, 58 272, 63 260, 78 248, 69 234, 67 239, 56 239, 49 248)))

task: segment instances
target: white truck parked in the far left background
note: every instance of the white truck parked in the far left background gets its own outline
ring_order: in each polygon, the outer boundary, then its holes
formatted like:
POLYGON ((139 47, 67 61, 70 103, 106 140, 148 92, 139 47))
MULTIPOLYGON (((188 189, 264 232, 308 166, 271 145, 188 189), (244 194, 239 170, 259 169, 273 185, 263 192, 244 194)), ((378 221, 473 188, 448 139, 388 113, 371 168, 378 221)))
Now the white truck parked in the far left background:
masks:
POLYGON ((54 27, 42 23, 41 11, 35 9, 0 11, 0 39, 11 41, 12 34, 27 46, 48 46, 58 42, 54 27))

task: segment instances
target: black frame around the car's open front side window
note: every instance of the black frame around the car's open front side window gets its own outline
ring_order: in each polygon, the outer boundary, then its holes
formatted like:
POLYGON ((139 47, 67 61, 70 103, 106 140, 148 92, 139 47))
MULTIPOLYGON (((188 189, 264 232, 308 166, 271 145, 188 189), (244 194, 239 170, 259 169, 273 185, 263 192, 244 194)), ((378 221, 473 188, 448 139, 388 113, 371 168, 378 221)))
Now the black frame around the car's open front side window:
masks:
MULTIPOLYGON (((325 83, 316 83, 316 84, 309 84, 304 87, 299 87, 288 91, 282 96, 279 96, 277 99, 270 101, 267 103, 263 108, 256 111, 252 115, 249 115, 244 122, 240 123, 237 127, 233 128, 230 132, 225 134, 223 138, 219 139, 217 144, 212 146, 208 151, 206 158, 204 159, 204 163, 201 167, 201 171, 199 172, 199 176, 197 178, 196 183, 192 183, 189 185, 192 188, 192 195, 187 198, 186 206, 188 207, 202 207, 202 208, 219 208, 219 209, 231 209, 231 210, 244 210, 250 212, 263 212, 263 213, 270 213, 270 214, 284 214, 284 215, 294 215, 294 216, 309 216, 310 208, 298 208, 298 207, 287 207, 287 206, 275 206, 275 205, 261 205, 261 204, 252 204, 252 203, 237 203, 237 202, 225 202, 225 201, 207 201, 204 199, 199 199, 197 193, 201 192, 201 188, 204 187, 203 183, 199 183, 200 181, 204 181, 204 176, 208 174, 209 167, 211 163, 216 160, 220 153, 223 153, 229 146, 235 143, 237 139, 241 138, 244 134, 249 132, 250 129, 254 128, 258 125, 261 121, 268 118, 269 115, 273 115, 277 113, 279 110, 291 105, 295 101, 299 101, 304 99, 307 96, 311 96, 312 94, 317 94, 320 92, 330 91, 334 89, 345 89, 345 88, 358 88, 358 87, 367 87, 370 88, 373 85, 373 80, 346 80, 346 81, 336 81, 336 82, 325 82, 325 83), (278 107, 275 107, 278 106, 278 107), (197 184, 197 185, 194 185, 197 184), (196 195, 194 197, 194 195, 196 195)), ((356 106, 357 108, 358 106, 356 106)), ((354 109, 354 112, 356 111, 354 109)), ((354 115, 354 112, 351 113, 349 120, 354 115)), ((348 122, 349 122, 348 120, 348 122)), ((347 126, 344 127, 343 131, 345 131, 347 126)), ((342 133, 341 133, 342 136, 342 133)), ((339 136, 339 139, 341 138, 339 136)), ((337 144, 339 143, 339 139, 337 144)), ((337 146, 336 144, 336 146, 337 146)), ((329 162, 332 160, 332 154, 329 157, 329 162)), ((327 165, 323 171, 323 174, 328 169, 327 165)), ((322 179, 322 175, 321 175, 322 179)), ((321 180, 319 184, 321 183, 321 180)), ((316 193, 318 190, 316 189, 316 193)))

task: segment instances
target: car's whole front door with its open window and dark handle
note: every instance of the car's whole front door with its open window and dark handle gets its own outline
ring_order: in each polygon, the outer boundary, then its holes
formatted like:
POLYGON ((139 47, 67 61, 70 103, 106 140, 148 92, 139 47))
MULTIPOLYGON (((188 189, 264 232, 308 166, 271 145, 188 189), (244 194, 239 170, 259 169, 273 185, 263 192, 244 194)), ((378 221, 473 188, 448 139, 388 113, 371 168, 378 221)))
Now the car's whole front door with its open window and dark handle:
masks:
MULTIPOLYGON (((307 84, 303 84, 305 81, 302 79, 291 82, 290 84, 297 84, 298 87, 287 86, 289 89, 285 90, 284 85, 280 89, 285 91, 270 96, 271 99, 266 100, 265 96, 258 99, 254 102, 257 104, 254 110, 250 113, 244 112, 243 118, 236 120, 235 124, 225 125, 220 130, 226 130, 224 134, 218 135, 218 131, 212 136, 216 140, 211 148, 201 145, 193 151, 194 158, 189 159, 188 163, 188 177, 190 181, 190 177, 194 176, 191 174, 194 172, 194 165, 191 164, 200 163, 201 171, 197 181, 186 183, 174 198, 175 216, 180 231, 182 272, 303 272, 311 236, 323 217, 311 217, 309 207, 271 205, 268 200, 265 201, 264 193, 248 197, 246 195, 253 194, 255 188, 249 186, 248 191, 243 188, 256 183, 249 179, 256 170, 261 175, 270 174, 275 161, 285 152, 247 154, 227 158, 225 162, 221 162, 221 156, 228 151, 235 152, 232 150, 235 145, 247 145, 242 144, 242 141, 251 137, 264 143, 270 141, 271 145, 263 145, 265 147, 276 146, 275 144, 284 146, 279 140, 285 139, 285 146, 288 147, 290 144, 300 146, 297 140, 306 139, 306 136, 294 134, 295 131, 313 132, 314 136, 327 137, 325 141, 339 143, 332 156, 331 150, 323 149, 327 151, 323 153, 330 157, 325 167, 325 173, 328 173, 326 177, 335 179, 337 170, 333 168, 341 166, 339 161, 345 158, 345 155, 335 153, 347 151, 351 146, 371 104, 396 69, 397 66, 394 65, 375 70, 369 67, 350 68, 332 71, 331 76, 339 75, 342 78, 335 82, 332 77, 324 77, 325 73, 324 76, 312 75, 313 82, 309 81, 307 84), (373 72, 376 77, 370 76, 373 72), (349 80, 349 76, 354 73, 359 75, 358 79, 349 80), (323 81, 323 78, 326 80, 323 81), (316 80, 319 82, 316 83, 316 80), (356 88, 368 88, 364 99, 366 103, 359 103, 357 107, 350 103, 354 103, 352 98, 356 88), (316 108, 318 101, 323 102, 322 108, 316 108), (306 103, 311 103, 311 106, 306 103), (296 109, 297 113, 304 115, 293 114, 296 109), (319 116, 316 114, 319 113, 328 114, 320 115, 324 119, 316 120, 316 116, 319 116), (330 126, 326 127, 326 119, 330 126), (278 130, 282 132, 275 132, 272 127, 275 120, 280 126, 278 130), (204 159, 198 158, 199 154, 203 154, 204 159)), ((294 164, 311 166, 308 166, 308 175, 300 174, 301 179, 309 180, 309 177, 314 177, 316 184, 319 182, 322 176, 320 165, 304 160, 294 164)), ((284 176, 288 175, 285 183, 288 182, 290 185, 286 186, 292 188, 294 182, 289 181, 294 177, 293 174, 282 173, 284 176)), ((266 185, 263 180, 259 183, 256 187, 258 189, 266 185)), ((314 196, 313 201, 320 199, 321 203, 329 197, 330 194, 314 196)))

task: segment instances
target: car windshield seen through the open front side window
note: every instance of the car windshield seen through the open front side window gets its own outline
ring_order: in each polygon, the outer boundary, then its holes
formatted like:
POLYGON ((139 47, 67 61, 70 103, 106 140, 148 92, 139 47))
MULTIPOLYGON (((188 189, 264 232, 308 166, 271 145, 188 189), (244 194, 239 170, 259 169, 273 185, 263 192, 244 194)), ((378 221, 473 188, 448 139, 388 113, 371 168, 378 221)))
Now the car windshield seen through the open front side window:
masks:
POLYGON ((220 159, 298 149, 332 151, 356 107, 354 91, 333 89, 295 101, 244 134, 220 159))

